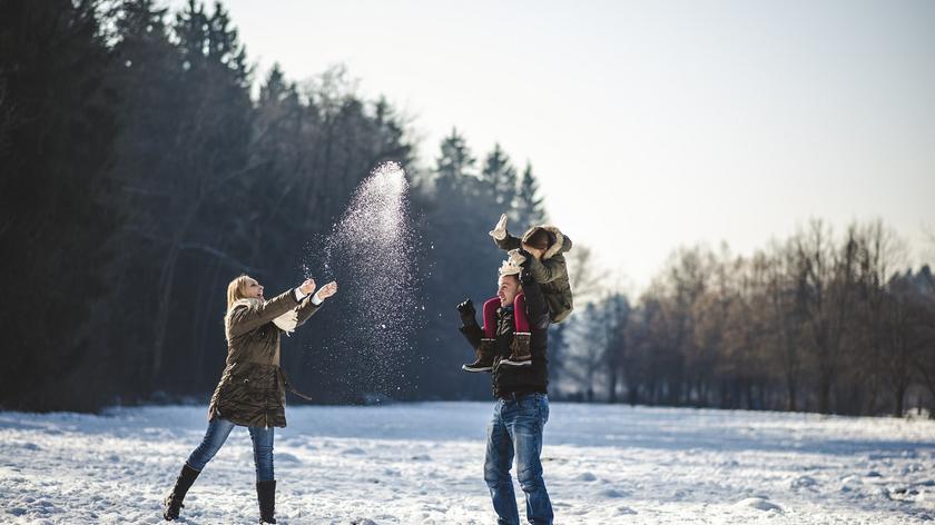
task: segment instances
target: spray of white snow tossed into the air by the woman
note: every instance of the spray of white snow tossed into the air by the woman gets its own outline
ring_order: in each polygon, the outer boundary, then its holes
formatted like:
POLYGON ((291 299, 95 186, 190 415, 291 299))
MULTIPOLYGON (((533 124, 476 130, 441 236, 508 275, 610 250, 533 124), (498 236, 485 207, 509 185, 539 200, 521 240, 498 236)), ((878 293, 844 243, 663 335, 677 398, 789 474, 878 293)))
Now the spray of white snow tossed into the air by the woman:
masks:
POLYGON ((412 355, 409 341, 415 329, 417 239, 407 191, 398 164, 376 167, 303 264, 306 278, 314 276, 319 286, 337 280, 341 300, 350 305, 348 315, 331 330, 331 347, 323 348, 358 359, 342 379, 364 380, 372 390, 390 395, 404 379, 397 372, 412 355))

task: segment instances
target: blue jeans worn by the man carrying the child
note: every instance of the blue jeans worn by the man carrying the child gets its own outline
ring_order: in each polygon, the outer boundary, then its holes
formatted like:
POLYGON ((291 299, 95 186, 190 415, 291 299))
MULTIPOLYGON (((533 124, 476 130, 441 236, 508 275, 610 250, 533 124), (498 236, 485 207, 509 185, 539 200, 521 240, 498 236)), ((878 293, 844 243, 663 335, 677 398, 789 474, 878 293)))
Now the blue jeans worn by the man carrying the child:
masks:
POLYGON ((516 477, 525 493, 526 519, 534 525, 552 523, 552 502, 542 481, 542 427, 549 420, 549 397, 526 394, 498 399, 488 427, 484 481, 490 487, 496 523, 519 525, 516 496, 510 468, 516 457, 516 477))

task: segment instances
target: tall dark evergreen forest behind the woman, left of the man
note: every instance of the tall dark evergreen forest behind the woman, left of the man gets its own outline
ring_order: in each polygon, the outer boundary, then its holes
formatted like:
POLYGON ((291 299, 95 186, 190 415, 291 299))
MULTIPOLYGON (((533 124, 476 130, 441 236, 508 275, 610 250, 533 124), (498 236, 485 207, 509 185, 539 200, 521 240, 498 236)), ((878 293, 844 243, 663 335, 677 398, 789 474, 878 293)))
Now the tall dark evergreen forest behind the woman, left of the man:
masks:
POLYGON ((0 406, 205 398, 227 283, 248 273, 272 296, 321 271, 303 262, 384 160, 413 184, 412 350, 382 375, 360 348, 321 351, 356 313, 336 299, 285 340, 284 366, 323 403, 486 395, 459 369, 470 348, 452 308, 493 295, 501 210, 541 219, 531 168, 499 146, 478 160, 452 131, 420 171, 405 120, 339 68, 296 83, 274 67, 252 97, 255 83, 220 3, 0 0, 0 406))

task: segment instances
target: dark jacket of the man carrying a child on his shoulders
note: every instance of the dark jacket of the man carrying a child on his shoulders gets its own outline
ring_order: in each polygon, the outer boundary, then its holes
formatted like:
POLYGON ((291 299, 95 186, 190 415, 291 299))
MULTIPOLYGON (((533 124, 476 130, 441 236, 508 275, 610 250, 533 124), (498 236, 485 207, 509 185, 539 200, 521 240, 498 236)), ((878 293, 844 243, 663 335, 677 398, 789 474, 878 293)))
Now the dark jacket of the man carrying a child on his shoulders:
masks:
MULTIPOLYGON (((549 309, 545 306, 545 298, 542 296, 542 288, 532 278, 529 270, 520 274, 523 294, 525 295, 526 315, 530 324, 530 351, 532 365, 530 366, 501 366, 500 361, 510 357, 510 344, 513 341, 513 308, 500 308, 496 310, 496 343, 494 344, 495 357, 493 358, 493 395, 494 397, 506 397, 511 394, 530 394, 539 392, 547 394, 549 385, 549 358, 547 346, 549 338, 549 309)), ((468 338, 468 343, 475 349, 481 344, 484 333, 476 323, 461 327, 461 333, 468 338)))

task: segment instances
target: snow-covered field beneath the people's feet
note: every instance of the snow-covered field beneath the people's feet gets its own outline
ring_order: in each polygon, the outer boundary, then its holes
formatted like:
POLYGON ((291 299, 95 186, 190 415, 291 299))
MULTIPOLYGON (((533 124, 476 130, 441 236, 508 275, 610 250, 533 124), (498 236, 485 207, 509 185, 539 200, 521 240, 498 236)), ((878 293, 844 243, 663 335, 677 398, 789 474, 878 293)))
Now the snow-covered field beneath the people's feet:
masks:
MULTIPOLYGON (((275 445, 279 523, 494 523, 491 408, 289 407, 275 445)), ((205 408, 188 406, 0 413, 0 523, 161 523, 205 425, 205 408)), ((935 519, 928 420, 554 403, 543 464, 558 524, 935 519)), ((185 503, 180 523, 256 522, 245 429, 185 503)))

